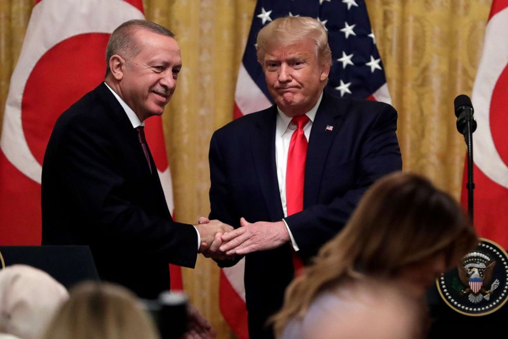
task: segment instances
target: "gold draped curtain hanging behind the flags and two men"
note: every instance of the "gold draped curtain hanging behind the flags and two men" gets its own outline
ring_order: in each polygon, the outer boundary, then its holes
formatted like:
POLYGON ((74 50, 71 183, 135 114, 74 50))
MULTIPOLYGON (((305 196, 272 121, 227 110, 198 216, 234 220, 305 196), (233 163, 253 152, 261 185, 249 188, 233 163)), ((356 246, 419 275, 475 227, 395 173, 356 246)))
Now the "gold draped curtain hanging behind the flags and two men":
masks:
MULTIPOLYGON (((316 0, 317 1, 317 0, 316 0)), ((334 0, 338 1, 338 0, 334 0)), ((34 0, 0 0, 0 121, 34 0)), ((453 98, 471 94, 492 0, 366 0, 393 106, 404 169, 459 197, 465 144, 453 98)), ((232 118, 238 67, 256 0, 145 0, 146 18, 182 50, 178 88, 163 117, 176 218, 209 212, 208 143, 232 118)), ((241 169, 239 169, 241 170, 241 169)), ((232 338, 218 306, 219 270, 199 257, 183 270, 190 300, 232 338)))

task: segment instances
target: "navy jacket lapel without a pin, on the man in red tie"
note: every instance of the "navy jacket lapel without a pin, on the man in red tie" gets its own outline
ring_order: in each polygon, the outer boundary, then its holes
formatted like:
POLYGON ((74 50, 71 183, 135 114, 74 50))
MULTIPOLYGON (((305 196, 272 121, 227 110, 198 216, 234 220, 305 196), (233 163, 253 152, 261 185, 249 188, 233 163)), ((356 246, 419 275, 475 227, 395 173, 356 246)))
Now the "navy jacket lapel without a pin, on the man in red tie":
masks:
POLYGON ((253 128, 250 145, 266 208, 270 219, 276 221, 281 220, 284 216, 275 163, 277 110, 273 106, 268 112, 259 114, 264 114, 265 116, 264 119, 259 119, 253 128))

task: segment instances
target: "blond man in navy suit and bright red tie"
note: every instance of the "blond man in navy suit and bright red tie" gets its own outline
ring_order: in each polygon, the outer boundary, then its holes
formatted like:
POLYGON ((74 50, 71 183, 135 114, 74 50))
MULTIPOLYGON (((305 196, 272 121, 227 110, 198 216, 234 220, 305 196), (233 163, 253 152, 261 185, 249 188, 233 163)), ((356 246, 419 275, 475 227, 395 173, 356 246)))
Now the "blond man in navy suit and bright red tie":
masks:
POLYGON ((276 105, 216 131, 209 153, 210 218, 237 228, 209 254, 221 267, 245 255, 251 339, 273 336, 264 325, 299 260, 343 228, 377 178, 401 169, 396 111, 324 92, 331 52, 319 22, 276 19, 257 50, 276 105))

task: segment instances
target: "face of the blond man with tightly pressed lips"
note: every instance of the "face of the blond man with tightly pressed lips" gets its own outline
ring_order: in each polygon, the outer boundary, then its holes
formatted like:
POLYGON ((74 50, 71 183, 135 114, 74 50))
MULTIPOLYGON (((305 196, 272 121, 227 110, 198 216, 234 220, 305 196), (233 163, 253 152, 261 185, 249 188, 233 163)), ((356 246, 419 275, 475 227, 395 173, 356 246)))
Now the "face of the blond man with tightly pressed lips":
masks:
POLYGON ((268 50, 262 66, 270 95, 290 117, 305 114, 316 104, 330 71, 320 65, 310 38, 268 50))

